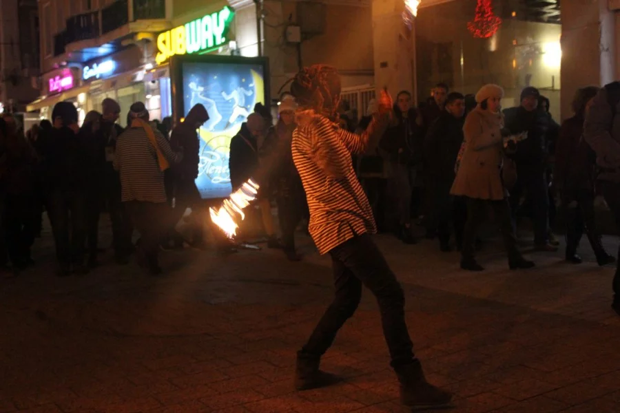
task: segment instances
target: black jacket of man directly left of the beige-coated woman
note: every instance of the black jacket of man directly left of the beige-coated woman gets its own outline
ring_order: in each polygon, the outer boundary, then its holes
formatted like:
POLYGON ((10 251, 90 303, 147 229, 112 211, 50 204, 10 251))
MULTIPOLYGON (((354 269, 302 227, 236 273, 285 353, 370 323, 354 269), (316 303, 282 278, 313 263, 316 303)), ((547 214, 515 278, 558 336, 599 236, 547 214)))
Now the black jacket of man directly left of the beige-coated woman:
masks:
POLYGON ((437 117, 424 138, 424 171, 434 182, 452 184, 454 165, 464 139, 464 118, 457 119, 446 111, 437 117))

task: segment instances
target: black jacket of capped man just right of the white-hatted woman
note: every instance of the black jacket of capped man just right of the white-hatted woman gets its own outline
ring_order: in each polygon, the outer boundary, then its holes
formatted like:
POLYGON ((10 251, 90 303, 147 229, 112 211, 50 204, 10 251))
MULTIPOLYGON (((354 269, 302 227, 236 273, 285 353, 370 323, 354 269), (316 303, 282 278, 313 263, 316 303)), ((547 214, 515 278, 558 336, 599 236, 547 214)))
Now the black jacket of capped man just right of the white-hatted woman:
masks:
POLYGON ((519 169, 543 170, 547 160, 548 121, 545 114, 534 110, 527 112, 523 107, 504 110, 505 127, 510 134, 528 131, 528 138, 517 143, 517 152, 511 156, 519 169))

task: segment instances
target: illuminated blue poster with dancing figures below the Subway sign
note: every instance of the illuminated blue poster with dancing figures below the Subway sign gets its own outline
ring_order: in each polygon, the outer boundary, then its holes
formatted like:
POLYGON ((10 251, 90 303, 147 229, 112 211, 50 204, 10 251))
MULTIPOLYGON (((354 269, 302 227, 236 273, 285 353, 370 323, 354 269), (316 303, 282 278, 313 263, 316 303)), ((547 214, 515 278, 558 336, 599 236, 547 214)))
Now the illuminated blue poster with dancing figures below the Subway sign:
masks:
POLYGON ((231 193, 228 168, 230 141, 254 110, 265 103, 262 63, 183 62, 183 114, 197 103, 209 120, 200 128, 200 163, 196 186, 203 199, 231 193))

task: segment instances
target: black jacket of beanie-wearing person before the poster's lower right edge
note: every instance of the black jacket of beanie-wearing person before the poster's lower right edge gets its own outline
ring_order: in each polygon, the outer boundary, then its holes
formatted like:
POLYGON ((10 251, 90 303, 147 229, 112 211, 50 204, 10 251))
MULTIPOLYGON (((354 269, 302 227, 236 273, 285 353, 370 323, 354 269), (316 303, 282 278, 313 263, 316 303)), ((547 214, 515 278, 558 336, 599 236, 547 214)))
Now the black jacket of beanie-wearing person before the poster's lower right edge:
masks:
POLYGON ((254 176, 258 170, 258 142, 252 136, 247 124, 241 125, 241 130, 230 141, 230 184, 236 191, 243 182, 254 176))

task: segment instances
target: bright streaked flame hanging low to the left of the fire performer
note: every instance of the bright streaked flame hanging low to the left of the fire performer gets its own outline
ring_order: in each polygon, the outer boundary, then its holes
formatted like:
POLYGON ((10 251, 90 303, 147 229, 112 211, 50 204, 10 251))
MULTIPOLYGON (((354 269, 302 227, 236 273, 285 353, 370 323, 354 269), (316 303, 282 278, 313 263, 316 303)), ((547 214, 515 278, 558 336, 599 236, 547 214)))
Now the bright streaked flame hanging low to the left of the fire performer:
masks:
POLYGON ((211 221, 219 226, 227 237, 234 237, 239 228, 235 222, 236 215, 240 215, 241 220, 245 220, 243 209, 256 199, 257 194, 258 184, 251 179, 247 180, 239 189, 231 193, 229 198, 224 200, 219 209, 209 208, 211 221))

